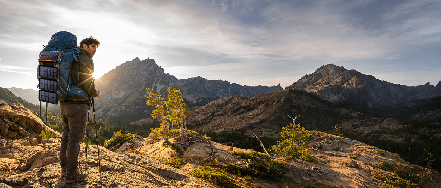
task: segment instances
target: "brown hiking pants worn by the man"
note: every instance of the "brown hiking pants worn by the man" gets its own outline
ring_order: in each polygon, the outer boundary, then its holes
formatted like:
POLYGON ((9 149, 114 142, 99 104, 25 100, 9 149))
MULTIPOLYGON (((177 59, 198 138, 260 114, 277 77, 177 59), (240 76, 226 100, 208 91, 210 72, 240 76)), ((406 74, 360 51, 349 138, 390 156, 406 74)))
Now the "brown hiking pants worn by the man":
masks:
POLYGON ((78 170, 80 142, 86 133, 87 110, 89 104, 60 102, 63 135, 60 145, 60 165, 66 167, 66 175, 74 175, 78 170))

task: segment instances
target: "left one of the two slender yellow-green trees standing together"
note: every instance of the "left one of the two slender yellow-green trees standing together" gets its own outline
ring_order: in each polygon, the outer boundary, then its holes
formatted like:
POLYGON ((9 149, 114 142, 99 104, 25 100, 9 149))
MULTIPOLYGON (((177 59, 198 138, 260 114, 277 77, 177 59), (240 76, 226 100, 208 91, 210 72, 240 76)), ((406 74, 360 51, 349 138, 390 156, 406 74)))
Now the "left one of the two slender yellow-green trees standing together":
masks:
POLYGON ((162 128, 162 133, 164 135, 164 140, 167 140, 167 136, 166 136, 166 129, 168 128, 168 122, 165 121, 165 101, 164 98, 161 96, 161 94, 159 92, 154 92, 152 89, 150 88, 146 88, 147 90, 147 94, 148 95, 144 95, 144 97, 147 97, 147 101, 146 104, 150 105, 150 106, 154 106, 156 107, 155 110, 152 111, 152 117, 156 118, 158 116, 161 116, 161 119, 159 120, 159 122, 161 122, 161 128, 162 128))

